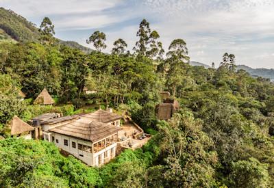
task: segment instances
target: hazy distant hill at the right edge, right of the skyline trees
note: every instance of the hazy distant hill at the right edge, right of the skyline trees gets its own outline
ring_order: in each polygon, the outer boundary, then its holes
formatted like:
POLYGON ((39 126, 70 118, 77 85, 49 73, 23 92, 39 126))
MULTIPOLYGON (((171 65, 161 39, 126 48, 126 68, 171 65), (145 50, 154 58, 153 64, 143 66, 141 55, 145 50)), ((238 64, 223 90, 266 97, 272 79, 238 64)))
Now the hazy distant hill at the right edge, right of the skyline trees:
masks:
POLYGON ((267 68, 251 68, 245 65, 238 65, 237 70, 245 70, 249 72, 252 77, 264 77, 266 79, 274 80, 274 69, 267 69, 267 68))

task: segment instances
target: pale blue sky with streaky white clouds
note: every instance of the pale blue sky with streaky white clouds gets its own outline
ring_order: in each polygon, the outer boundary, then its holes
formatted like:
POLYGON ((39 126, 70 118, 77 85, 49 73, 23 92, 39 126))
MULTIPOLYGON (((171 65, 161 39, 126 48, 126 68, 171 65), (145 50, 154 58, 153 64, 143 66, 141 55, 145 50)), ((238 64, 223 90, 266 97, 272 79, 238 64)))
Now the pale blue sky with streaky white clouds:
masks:
POLYGON ((36 25, 48 16, 57 38, 91 49, 86 39, 99 30, 107 36, 105 52, 118 38, 132 51, 146 18, 166 51, 184 39, 191 61, 219 65, 227 52, 236 64, 274 68, 274 0, 0 0, 0 6, 36 25))

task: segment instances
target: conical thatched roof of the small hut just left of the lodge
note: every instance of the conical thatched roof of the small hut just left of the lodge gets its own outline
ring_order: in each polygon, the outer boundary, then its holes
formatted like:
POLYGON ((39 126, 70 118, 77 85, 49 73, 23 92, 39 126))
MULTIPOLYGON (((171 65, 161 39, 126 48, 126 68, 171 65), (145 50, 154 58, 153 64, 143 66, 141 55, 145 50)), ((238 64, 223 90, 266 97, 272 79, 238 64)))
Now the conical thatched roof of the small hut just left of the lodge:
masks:
POLYGON ((17 116, 14 116, 14 118, 10 122, 11 135, 19 135, 19 134, 26 133, 33 130, 34 130, 33 126, 30 126, 26 122, 23 122, 23 120, 21 120, 17 116))

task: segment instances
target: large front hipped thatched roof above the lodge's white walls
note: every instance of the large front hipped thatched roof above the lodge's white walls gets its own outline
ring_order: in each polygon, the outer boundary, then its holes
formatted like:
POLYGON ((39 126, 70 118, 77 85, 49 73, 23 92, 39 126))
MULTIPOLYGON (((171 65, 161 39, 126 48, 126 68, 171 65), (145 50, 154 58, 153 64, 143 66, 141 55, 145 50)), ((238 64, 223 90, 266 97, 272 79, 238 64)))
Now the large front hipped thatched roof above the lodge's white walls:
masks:
POLYGON ((97 142, 100 139, 108 137, 121 130, 122 128, 119 126, 112 126, 110 124, 95 122, 84 118, 50 129, 50 131, 54 133, 77 137, 91 142, 97 142))

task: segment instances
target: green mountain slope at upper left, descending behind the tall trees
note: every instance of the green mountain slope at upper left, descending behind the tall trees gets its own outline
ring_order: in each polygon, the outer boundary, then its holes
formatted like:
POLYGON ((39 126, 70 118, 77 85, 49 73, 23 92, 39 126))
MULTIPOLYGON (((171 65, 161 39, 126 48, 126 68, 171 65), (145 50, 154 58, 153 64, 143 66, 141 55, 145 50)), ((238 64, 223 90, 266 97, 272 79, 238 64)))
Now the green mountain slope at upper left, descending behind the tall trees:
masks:
MULTIPOLYGON (((27 21, 23 16, 12 10, 0 8, 0 40, 15 40, 18 42, 38 42, 40 33, 34 23, 27 21)), ((92 49, 82 46, 74 41, 60 40, 61 44, 90 53, 92 49)))

